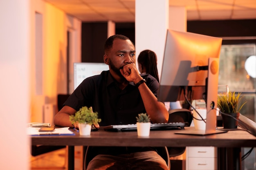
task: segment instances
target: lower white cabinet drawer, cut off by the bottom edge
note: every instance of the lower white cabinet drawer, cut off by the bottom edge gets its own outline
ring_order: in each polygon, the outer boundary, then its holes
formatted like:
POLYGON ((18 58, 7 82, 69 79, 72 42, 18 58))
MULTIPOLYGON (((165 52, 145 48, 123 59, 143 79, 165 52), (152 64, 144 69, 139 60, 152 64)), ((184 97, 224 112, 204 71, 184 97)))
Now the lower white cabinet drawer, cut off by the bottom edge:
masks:
POLYGON ((188 170, 217 170, 217 158, 189 158, 188 170))

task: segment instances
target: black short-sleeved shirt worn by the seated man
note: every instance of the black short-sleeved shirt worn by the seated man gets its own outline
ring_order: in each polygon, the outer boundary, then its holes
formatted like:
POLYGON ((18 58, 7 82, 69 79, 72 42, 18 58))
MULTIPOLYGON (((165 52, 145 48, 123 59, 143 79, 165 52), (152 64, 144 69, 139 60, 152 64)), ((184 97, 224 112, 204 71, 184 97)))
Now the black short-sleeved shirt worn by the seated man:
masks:
MULTIPOLYGON (((148 74, 141 74, 148 88, 157 97, 159 83, 148 74)), ((141 95, 133 82, 121 90, 109 71, 88 77, 75 89, 64 105, 79 110, 92 106, 101 118, 100 126, 136 124, 136 116, 146 113, 141 95)))

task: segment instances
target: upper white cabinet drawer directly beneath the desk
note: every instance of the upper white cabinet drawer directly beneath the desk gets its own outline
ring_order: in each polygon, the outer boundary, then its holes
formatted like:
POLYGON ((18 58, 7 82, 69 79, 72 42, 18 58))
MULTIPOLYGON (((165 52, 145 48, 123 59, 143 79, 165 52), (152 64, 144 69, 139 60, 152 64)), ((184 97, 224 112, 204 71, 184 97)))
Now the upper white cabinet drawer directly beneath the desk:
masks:
POLYGON ((214 147, 188 147, 188 157, 216 157, 217 149, 214 147))

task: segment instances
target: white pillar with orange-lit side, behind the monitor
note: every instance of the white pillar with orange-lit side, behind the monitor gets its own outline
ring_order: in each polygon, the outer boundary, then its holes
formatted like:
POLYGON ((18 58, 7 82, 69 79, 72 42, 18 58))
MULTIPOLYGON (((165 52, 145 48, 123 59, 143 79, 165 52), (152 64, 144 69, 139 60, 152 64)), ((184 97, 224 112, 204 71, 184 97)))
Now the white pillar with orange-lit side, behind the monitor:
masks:
POLYGON ((185 7, 169 7, 168 0, 135 1, 136 56, 145 49, 154 51, 157 54, 159 78, 167 29, 186 31, 185 7))

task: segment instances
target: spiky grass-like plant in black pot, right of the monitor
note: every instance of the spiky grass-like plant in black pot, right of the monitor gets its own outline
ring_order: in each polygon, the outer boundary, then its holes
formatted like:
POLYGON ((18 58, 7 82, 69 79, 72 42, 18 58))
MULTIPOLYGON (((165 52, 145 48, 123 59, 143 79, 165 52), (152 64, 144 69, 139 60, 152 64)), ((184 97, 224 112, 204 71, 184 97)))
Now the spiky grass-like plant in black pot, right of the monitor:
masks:
POLYGON ((243 96, 235 92, 221 93, 218 95, 217 105, 222 116, 223 127, 225 129, 237 128, 240 110, 246 101, 241 103, 243 96))

